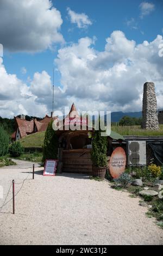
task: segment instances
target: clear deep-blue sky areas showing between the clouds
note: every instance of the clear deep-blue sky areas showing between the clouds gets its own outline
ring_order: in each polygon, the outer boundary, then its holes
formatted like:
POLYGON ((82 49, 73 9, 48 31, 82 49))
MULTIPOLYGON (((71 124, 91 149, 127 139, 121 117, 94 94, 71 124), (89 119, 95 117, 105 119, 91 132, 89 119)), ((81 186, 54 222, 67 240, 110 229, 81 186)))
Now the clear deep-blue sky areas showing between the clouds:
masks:
MULTIPOLYGON (((103 51, 105 47, 105 39, 115 30, 123 31, 127 38, 135 40, 137 44, 144 40, 152 41, 156 35, 162 33, 162 10, 163 2, 152 1, 155 4, 155 11, 147 15, 145 19, 140 18, 139 0, 55 0, 52 1, 54 6, 60 11, 64 20, 61 26, 61 33, 64 35, 65 41, 68 43, 77 42, 79 38, 96 36, 96 50, 103 51), (92 20, 92 25, 87 29, 78 29, 76 25, 72 25, 67 15, 67 7, 70 7, 76 13, 85 13, 92 20), (132 29, 127 25, 127 21, 135 19, 137 29, 132 29), (68 29, 73 29, 71 32, 68 29)), ((133 24, 133 26, 134 26, 133 24)), ((58 49, 60 45, 56 46, 58 49)), ((5 46, 4 46, 5 50, 5 46)), ((18 78, 27 82, 27 77, 32 77, 35 71, 41 72, 46 70, 49 75, 53 75, 53 67, 55 68, 54 58, 57 57, 57 50, 45 50, 41 53, 6 53, 4 51, 4 64, 7 71, 11 74, 17 74, 18 78), (27 69, 27 74, 23 75, 22 67, 27 69)), ((60 84, 60 75, 55 71, 55 83, 60 84)))

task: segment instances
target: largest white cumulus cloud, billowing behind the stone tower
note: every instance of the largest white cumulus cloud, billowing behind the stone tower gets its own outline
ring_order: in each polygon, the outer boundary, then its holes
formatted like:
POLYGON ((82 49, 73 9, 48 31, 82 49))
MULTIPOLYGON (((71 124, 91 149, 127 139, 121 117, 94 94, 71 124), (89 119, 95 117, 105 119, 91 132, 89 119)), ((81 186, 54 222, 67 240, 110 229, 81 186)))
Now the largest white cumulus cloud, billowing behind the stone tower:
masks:
POLYGON ((163 107, 161 42, 158 35, 152 42, 136 45, 123 32, 114 31, 103 52, 95 50, 90 38, 60 49, 55 62, 65 97, 83 110, 141 111, 143 83, 153 81, 158 106, 163 107))

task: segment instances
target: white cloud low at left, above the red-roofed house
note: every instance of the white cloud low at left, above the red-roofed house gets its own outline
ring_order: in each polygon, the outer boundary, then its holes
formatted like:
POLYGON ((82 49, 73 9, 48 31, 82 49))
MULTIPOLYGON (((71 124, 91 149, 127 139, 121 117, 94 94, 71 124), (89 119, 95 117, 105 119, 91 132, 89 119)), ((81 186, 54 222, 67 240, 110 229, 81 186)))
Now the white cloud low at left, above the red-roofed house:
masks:
MULTIPOLYGON (((13 118, 14 115, 28 114, 39 117, 49 114, 52 109, 52 83, 46 71, 36 72, 30 85, 23 83, 16 75, 8 74, 0 58, 0 115, 13 118)), ((64 105, 65 95, 54 87, 55 106, 64 105)))

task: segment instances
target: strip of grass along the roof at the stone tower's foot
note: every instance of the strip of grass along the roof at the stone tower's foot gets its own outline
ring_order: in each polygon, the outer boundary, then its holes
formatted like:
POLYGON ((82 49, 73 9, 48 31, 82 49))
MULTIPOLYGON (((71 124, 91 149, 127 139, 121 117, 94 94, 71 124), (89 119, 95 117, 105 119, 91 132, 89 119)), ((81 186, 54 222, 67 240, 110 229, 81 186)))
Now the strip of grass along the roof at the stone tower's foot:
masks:
POLYGON ((160 125, 159 131, 148 131, 141 129, 141 126, 111 126, 111 130, 121 135, 137 135, 137 136, 163 136, 163 125, 160 125))

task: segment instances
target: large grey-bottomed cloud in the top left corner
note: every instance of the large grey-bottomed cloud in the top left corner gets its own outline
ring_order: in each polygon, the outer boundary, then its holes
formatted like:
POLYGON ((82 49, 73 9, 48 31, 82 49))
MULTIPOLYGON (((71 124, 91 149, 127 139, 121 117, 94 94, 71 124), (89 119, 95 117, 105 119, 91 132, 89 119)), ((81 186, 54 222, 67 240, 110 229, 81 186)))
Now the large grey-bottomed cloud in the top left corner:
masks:
POLYGON ((64 42, 60 12, 49 0, 1 0, 0 42, 11 52, 39 52, 64 42))

